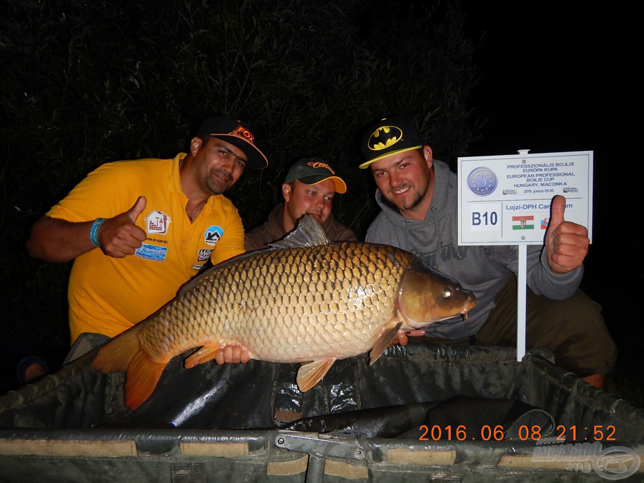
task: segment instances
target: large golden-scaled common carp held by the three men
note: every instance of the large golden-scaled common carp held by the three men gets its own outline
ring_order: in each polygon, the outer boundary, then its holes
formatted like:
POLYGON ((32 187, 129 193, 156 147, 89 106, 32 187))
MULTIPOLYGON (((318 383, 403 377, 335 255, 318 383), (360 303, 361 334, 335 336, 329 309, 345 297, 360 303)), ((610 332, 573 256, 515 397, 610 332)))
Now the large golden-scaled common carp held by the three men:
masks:
POLYGON ((187 282, 155 314, 100 348, 92 366, 126 371, 126 404, 153 392, 167 363, 202 346, 186 367, 241 343, 252 359, 309 362, 306 391, 336 359, 370 352, 370 363, 399 330, 467 314, 472 294, 422 267, 410 252, 375 243, 330 242, 316 218, 272 248, 224 261, 187 282))

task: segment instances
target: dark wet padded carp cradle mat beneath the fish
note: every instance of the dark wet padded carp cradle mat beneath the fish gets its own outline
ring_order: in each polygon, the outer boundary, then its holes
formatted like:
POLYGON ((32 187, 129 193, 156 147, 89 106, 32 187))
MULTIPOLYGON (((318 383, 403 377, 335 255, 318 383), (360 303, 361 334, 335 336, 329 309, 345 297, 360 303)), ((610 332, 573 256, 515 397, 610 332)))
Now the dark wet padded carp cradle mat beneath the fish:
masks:
POLYGON ((366 355, 337 361, 306 393, 299 365, 186 370, 186 353, 134 411, 123 403, 123 374, 93 370, 93 355, 0 397, 0 481, 644 480, 644 465, 627 473, 644 458, 644 413, 547 352, 518 363, 509 348, 396 346, 373 366, 366 355), (490 421, 468 409, 482 400, 490 421), (279 429, 428 401, 402 437, 279 429), (545 415, 554 432, 538 440, 545 415))

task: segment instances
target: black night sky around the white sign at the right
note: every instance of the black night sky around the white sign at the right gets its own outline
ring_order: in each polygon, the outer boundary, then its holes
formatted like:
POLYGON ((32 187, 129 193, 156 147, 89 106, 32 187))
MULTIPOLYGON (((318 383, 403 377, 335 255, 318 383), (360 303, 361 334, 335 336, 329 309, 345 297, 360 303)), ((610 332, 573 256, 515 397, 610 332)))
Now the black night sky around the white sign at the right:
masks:
POLYGON ((629 14, 587 3, 575 4, 588 7, 579 11, 525 4, 491 10, 466 2, 466 31, 474 39, 485 32, 475 55, 483 78, 471 105, 488 118, 469 155, 594 151, 593 240, 582 289, 601 303, 620 360, 641 361, 640 176, 631 167, 640 102, 629 14))

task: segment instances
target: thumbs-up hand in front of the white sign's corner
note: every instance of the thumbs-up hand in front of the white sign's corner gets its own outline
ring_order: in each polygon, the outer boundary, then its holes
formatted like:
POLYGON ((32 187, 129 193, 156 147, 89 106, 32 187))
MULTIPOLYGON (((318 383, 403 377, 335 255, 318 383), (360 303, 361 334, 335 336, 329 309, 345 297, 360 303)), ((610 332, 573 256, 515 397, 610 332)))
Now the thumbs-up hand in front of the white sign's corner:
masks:
POLYGON ((565 274, 581 267, 590 244, 588 230, 577 223, 566 222, 564 211, 564 196, 554 196, 544 245, 548 265, 558 274, 565 274))

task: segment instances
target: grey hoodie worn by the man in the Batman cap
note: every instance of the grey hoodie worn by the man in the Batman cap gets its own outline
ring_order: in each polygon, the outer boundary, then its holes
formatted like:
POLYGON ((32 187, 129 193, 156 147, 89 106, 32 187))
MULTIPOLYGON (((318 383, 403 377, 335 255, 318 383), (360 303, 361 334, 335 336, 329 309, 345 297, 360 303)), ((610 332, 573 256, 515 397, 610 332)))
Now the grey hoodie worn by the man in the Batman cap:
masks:
MULTIPOLYGON (((433 166, 433 198, 425 220, 404 218, 376 191, 375 199, 382 211, 371 223, 366 242, 387 243, 410 251, 428 267, 438 269, 474 292, 477 305, 469 311, 467 320, 448 319, 425 329, 428 336, 459 339, 476 334, 495 308, 498 292, 518 270, 518 247, 459 247, 457 176, 442 161, 433 160, 433 166)), ((583 267, 564 275, 555 274, 547 265, 542 246, 527 247, 527 285, 535 294, 557 300, 568 298, 579 287, 582 276, 583 267)))

